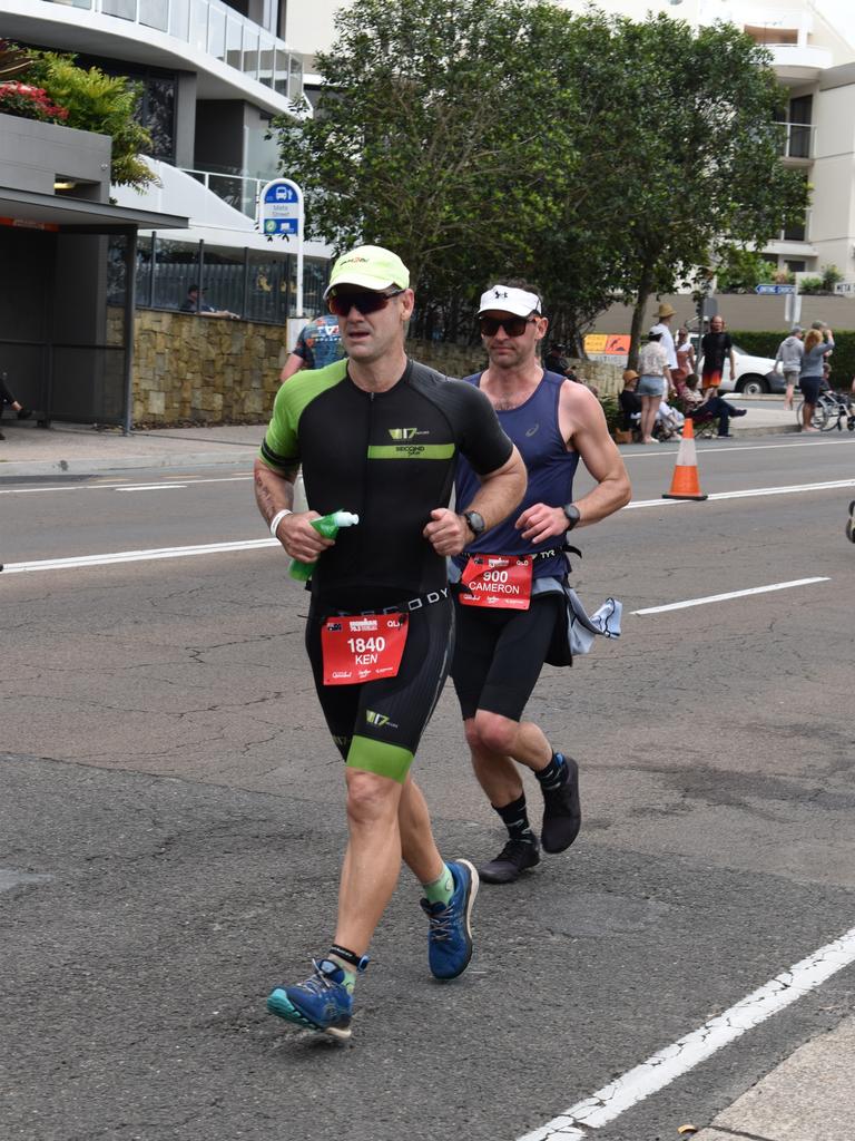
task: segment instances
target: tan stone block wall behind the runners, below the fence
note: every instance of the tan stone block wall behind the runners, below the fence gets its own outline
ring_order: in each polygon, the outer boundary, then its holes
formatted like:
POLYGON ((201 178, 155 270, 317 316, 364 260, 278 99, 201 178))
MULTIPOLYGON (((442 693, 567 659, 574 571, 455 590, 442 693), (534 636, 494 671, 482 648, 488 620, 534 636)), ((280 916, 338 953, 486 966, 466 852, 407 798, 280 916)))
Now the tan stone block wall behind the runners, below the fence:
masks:
MULTIPOLYGON (((121 330, 121 309, 111 310, 113 335, 121 330)), ((285 330, 277 325, 139 309, 133 423, 262 423, 279 388, 285 346, 285 330)), ((407 351, 449 377, 466 377, 487 363, 480 345, 413 340, 407 351)), ((620 391, 620 369, 592 361, 573 364, 601 395, 620 391)))

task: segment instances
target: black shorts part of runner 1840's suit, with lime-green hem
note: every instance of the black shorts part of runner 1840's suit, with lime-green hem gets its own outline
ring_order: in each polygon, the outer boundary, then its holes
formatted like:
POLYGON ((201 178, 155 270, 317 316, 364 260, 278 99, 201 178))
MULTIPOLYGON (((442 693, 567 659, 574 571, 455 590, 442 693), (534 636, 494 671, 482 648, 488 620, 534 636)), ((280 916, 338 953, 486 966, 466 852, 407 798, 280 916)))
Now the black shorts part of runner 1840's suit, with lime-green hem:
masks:
POLYGON ((324 717, 349 766, 404 782, 439 701, 454 649, 448 597, 409 612, 407 644, 394 678, 356 686, 325 686, 320 628, 328 609, 312 604, 306 649, 324 717))

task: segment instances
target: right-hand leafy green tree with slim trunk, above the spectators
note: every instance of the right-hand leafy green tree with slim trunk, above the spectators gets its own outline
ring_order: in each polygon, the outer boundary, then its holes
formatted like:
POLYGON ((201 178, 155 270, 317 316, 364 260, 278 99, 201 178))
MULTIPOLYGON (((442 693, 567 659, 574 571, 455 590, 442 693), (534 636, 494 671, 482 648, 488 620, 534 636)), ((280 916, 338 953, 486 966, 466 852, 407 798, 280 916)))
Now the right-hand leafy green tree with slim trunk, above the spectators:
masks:
POLYGON ((695 270, 703 281, 730 246, 765 245, 804 215, 807 186, 780 161, 782 94, 765 48, 728 24, 606 23, 602 50, 620 74, 596 131, 616 132, 617 161, 600 151, 586 163, 585 228, 608 233, 609 280, 634 306, 634 359, 651 297, 695 270))

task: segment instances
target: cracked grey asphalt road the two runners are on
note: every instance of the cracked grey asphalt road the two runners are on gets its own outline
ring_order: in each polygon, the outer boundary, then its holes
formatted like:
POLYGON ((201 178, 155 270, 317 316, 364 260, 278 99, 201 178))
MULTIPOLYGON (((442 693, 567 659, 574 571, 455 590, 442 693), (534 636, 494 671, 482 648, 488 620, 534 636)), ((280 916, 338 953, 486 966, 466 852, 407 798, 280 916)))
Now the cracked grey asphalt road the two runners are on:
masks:
MULTIPOLYGON (((662 501, 676 448, 638 448, 634 505, 578 535, 624 638, 529 706, 580 761, 578 843, 482 888, 453 985, 405 872, 345 1049, 263 1009, 326 947, 344 841, 282 552, 0 574, 0 1136, 515 1141, 855 926, 855 489, 760 493, 855 478, 855 442, 698 452, 705 492, 750 494, 662 501)), ((1 482, 7 570, 266 537, 245 472, 150 477, 1 482)), ((417 774, 442 850, 495 855, 450 688, 417 774)), ((854 990, 847 968, 595 1136, 711 1120, 854 990)))

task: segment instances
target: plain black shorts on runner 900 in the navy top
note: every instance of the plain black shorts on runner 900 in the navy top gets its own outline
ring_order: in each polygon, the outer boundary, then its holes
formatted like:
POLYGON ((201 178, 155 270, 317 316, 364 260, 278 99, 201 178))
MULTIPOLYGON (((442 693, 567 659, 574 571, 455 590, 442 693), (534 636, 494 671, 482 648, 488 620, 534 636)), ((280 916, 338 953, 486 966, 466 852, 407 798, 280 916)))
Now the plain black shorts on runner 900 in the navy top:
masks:
POLYGON ((521 720, 565 609, 559 593, 535 594, 528 610, 463 606, 455 596, 451 680, 464 720, 477 710, 521 720))

